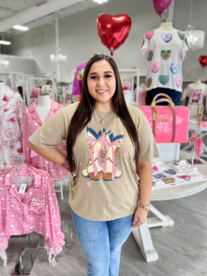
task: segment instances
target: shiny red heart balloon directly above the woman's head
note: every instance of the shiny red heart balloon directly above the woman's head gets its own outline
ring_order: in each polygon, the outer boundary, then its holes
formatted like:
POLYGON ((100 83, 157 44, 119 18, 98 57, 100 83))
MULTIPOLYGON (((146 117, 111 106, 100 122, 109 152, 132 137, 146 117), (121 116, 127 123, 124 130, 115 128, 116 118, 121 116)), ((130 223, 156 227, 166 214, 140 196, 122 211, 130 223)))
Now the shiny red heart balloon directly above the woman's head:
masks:
POLYGON ((97 32, 110 55, 124 43, 128 37, 132 21, 127 14, 101 14, 97 18, 97 32))

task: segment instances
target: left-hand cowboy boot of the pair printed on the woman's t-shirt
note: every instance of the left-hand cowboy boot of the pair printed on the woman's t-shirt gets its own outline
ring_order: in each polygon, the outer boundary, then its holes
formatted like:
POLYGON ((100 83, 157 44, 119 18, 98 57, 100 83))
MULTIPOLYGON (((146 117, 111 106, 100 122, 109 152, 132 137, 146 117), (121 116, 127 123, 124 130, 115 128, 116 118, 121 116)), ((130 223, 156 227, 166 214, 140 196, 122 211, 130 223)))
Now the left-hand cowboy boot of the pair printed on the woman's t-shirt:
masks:
POLYGON ((85 170, 82 170, 83 177, 88 177, 91 180, 99 180, 103 170, 101 163, 101 153, 103 142, 106 140, 106 130, 101 128, 97 133, 92 128, 86 128, 86 137, 88 139, 88 164, 85 170))

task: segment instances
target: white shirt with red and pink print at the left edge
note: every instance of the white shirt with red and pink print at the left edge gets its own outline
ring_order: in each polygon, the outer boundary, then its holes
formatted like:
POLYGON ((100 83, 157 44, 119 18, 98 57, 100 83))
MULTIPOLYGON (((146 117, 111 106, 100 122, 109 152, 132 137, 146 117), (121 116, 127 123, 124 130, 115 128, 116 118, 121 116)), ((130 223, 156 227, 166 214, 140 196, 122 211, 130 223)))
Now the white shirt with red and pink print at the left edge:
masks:
POLYGON ((0 100, 0 171, 10 170, 21 163, 24 112, 19 92, 5 85, 0 100))

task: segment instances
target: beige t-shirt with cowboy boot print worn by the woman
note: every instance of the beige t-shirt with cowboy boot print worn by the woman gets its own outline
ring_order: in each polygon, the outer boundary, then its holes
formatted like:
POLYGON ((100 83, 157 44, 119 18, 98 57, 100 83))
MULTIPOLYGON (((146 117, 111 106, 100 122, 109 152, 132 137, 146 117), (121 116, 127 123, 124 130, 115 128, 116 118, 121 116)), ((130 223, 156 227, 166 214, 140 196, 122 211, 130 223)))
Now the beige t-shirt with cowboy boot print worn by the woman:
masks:
MULTIPOLYGON (((68 126, 79 103, 61 108, 29 138, 41 148, 57 148, 66 139, 68 126)), ((137 127, 139 160, 159 157, 152 130, 135 106, 128 110, 137 127)), ((69 204, 79 216, 107 221, 135 213, 139 202, 139 176, 135 170, 132 141, 114 111, 96 110, 73 148, 77 177, 70 184, 69 204), (104 124, 101 124, 104 119, 104 124)))

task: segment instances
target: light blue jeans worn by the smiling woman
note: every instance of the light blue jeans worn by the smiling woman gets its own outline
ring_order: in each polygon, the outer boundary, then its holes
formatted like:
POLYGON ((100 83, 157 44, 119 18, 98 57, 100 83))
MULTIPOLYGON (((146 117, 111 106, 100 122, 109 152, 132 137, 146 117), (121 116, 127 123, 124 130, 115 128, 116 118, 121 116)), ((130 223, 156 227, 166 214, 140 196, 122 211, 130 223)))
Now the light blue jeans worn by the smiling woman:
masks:
POLYGON ((75 230, 88 263, 88 276, 119 275, 121 246, 132 231, 133 217, 91 221, 72 211, 75 230))

